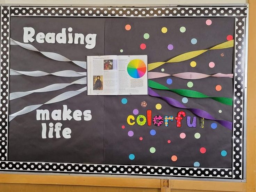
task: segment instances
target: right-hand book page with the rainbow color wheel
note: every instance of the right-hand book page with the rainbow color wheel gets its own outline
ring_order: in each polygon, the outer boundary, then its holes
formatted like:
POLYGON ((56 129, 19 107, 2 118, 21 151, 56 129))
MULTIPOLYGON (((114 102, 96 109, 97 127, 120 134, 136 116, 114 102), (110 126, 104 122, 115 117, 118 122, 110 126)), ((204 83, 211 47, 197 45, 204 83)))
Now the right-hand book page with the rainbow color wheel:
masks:
POLYGON ((118 95, 147 95, 147 55, 118 56, 118 95))

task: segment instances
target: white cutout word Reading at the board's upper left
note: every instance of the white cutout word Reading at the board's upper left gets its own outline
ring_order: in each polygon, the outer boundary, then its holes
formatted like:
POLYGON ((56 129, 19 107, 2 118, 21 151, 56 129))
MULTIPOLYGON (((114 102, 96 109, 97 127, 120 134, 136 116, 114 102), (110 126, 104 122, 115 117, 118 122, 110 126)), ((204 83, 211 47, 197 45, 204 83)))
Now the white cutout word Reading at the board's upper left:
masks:
MULTIPOLYGON (((72 32, 72 27, 69 27, 67 31, 72 32)), ((33 27, 23 27, 23 42, 28 43, 33 42, 35 39, 38 43, 74 43, 74 44, 85 44, 87 49, 93 49, 96 45, 96 35, 97 34, 87 34, 86 37, 82 33, 68 33, 66 34, 66 28, 62 28, 61 33, 43 33, 39 32, 35 35, 35 30, 33 27), (34 39, 35 35, 35 39, 34 39), (79 40, 80 39, 80 40, 79 40)))

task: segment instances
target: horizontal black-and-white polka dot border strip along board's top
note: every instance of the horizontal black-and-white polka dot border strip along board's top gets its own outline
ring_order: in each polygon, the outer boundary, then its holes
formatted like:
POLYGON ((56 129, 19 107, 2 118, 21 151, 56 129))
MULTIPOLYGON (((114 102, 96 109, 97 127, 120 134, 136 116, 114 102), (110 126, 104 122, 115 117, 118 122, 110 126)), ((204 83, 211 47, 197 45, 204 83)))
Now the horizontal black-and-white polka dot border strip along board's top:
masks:
POLYGON ((149 17, 149 16, 247 16, 247 7, 11 7, 11 16, 99 16, 99 17, 149 17))

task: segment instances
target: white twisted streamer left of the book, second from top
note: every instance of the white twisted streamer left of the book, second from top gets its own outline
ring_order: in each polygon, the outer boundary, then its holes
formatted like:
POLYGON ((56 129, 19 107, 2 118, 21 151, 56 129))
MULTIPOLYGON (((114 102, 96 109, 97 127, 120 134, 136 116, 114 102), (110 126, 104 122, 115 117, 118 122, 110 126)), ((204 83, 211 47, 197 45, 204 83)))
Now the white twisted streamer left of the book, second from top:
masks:
POLYGON ((57 71, 54 73, 47 73, 44 71, 16 71, 14 69, 10 69, 10 75, 27 75, 32 77, 41 77, 45 75, 55 75, 58 77, 81 77, 86 76, 86 72, 76 72, 72 70, 65 70, 65 71, 57 71))

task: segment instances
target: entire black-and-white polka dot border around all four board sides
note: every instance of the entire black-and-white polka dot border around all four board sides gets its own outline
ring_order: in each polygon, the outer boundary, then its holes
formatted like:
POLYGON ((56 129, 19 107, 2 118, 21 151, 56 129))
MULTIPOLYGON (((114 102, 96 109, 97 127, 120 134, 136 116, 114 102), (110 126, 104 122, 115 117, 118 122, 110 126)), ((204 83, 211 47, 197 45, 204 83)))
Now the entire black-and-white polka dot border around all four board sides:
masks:
POLYGON ((243 178, 243 73, 245 69, 246 7, 165 7, 165 8, 80 8, 80 7, 8 7, 1 6, 1 95, 0 95, 0 171, 86 173, 162 177, 243 178), (153 11, 153 12, 152 12, 153 11), (168 11, 168 13, 167 13, 168 11), (170 12, 171 11, 171 12, 170 12), (184 11, 184 12, 183 12, 184 11), (191 12, 192 11, 192 12, 191 12), (208 12, 207 12, 208 11, 208 12), (237 16, 235 18, 235 83, 233 169, 159 166, 94 165, 51 162, 7 161, 8 149, 8 70, 9 16, 237 16), (151 15, 152 14, 152 15, 151 15), (172 15, 170 15, 172 14, 172 15), (183 14, 183 15, 182 15, 183 14))

